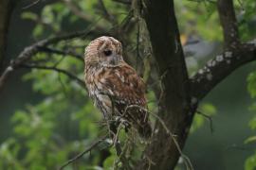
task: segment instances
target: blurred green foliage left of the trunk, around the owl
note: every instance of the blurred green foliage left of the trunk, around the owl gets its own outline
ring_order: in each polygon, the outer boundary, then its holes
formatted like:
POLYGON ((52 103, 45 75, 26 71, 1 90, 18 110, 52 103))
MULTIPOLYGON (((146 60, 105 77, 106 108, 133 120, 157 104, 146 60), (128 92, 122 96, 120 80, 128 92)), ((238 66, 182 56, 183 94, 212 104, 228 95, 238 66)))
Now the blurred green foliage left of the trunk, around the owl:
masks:
MULTIPOLYGON (((116 3, 105 2, 104 5, 105 8, 115 8, 111 14, 117 20, 116 25, 119 25, 127 10, 116 3)), ((104 18, 106 16, 101 8, 97 0, 76 1, 73 4, 54 3, 46 5, 41 14, 25 11, 21 17, 35 22, 32 35, 36 39, 43 39, 74 27, 77 30, 84 29, 84 26, 90 27, 91 24, 98 24, 95 22, 99 19, 101 22, 98 26, 111 29, 115 25, 104 18), (78 10, 85 12, 77 15, 78 10), (91 23, 82 21, 85 19, 91 23)), ((82 56, 86 42, 90 41, 86 37, 82 39, 60 42, 52 45, 52 49, 82 56)), ((30 64, 60 68, 83 79, 83 61, 72 55, 42 52, 33 57, 30 64)), ((53 70, 32 69, 24 76, 24 80, 31 81, 33 91, 40 93, 43 99, 35 106, 27 104, 27 110, 17 110, 12 116, 13 137, 0 145, 0 169, 59 168, 107 132, 106 126, 101 123, 99 110, 93 106, 84 87, 74 79, 53 70)), ((126 144, 122 130, 119 135, 121 143, 126 144)), ((101 169, 99 165, 104 169, 112 169, 115 164, 119 166, 116 151, 114 147, 109 149, 108 143, 105 141, 105 144, 94 148, 81 161, 76 161, 66 169, 101 169)), ((136 158, 139 155, 138 150, 127 150, 130 156, 135 155, 133 157, 136 158)))

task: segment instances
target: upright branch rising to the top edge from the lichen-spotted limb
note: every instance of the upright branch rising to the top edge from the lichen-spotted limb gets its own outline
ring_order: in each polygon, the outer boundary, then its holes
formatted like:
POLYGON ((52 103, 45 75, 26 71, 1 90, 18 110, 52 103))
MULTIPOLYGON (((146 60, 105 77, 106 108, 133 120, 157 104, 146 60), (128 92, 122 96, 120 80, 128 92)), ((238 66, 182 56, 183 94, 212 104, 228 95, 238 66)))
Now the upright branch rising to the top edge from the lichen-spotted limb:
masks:
POLYGON ((218 0, 220 23, 223 27, 225 48, 235 47, 239 43, 238 27, 232 0, 218 0))

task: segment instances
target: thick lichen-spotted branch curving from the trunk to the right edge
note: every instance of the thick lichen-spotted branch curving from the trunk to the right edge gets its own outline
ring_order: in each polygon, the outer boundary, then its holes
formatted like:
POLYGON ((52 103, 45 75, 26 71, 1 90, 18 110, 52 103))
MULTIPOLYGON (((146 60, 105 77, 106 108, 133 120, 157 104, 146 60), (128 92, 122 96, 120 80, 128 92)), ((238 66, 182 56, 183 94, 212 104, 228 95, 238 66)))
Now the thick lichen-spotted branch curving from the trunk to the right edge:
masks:
POLYGON ((196 104, 204 98, 219 82, 225 79, 235 69, 245 63, 256 60, 256 44, 245 43, 232 51, 210 59, 204 68, 192 76, 192 101, 196 104))

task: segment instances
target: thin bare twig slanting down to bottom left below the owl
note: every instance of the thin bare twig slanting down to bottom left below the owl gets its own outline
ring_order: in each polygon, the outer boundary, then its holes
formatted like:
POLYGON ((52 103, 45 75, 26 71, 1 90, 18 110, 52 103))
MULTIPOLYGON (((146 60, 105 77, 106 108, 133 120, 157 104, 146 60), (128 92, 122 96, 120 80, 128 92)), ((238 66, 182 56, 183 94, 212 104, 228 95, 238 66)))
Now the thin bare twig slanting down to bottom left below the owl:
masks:
POLYGON ((59 170, 63 170, 65 166, 67 166, 68 164, 74 162, 74 161, 78 161, 79 159, 82 158, 82 156, 88 152, 90 152, 93 148, 95 148, 97 145, 101 144, 103 141, 105 141, 105 139, 107 138, 107 135, 103 136, 100 140, 96 141, 94 144, 91 144, 91 146, 89 148, 86 148, 84 151, 82 151, 82 153, 78 154, 76 157, 66 161, 60 168, 59 170))

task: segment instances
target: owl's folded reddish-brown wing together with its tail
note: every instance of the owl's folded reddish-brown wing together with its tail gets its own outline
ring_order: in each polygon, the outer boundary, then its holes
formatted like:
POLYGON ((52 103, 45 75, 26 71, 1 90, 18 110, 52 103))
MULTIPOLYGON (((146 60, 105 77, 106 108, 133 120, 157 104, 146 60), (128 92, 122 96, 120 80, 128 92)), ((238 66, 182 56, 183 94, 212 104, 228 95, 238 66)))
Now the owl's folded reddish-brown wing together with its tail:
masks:
POLYGON ((125 120, 137 127, 142 137, 150 137, 152 128, 148 122, 148 113, 144 110, 146 109, 145 84, 137 76, 136 71, 128 64, 108 67, 102 69, 98 75, 97 84, 98 90, 108 95, 108 97, 101 96, 104 106, 111 110, 114 104, 115 111, 108 113, 116 114, 118 110, 125 120), (128 108, 129 106, 131 107, 128 108))

